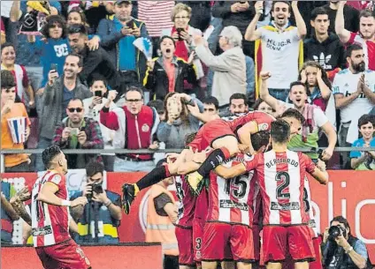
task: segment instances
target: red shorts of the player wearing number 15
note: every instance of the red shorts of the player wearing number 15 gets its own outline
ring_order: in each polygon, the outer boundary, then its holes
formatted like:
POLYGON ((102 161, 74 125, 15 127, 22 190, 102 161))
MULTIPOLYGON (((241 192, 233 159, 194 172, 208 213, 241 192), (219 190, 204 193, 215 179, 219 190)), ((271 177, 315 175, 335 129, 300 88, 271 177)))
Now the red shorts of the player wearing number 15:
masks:
POLYGON ((203 243, 205 261, 254 262, 253 232, 247 226, 206 222, 203 243))

